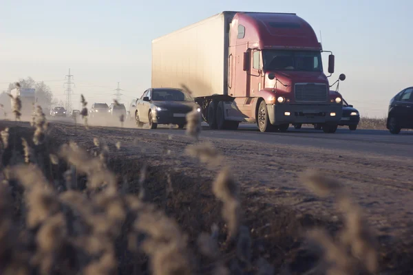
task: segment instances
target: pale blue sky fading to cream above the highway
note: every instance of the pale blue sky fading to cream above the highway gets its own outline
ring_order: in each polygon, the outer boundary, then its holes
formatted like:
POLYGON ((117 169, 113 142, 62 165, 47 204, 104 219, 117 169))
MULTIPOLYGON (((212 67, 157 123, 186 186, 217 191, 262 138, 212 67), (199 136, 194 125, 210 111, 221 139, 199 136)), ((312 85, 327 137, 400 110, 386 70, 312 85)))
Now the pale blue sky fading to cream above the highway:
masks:
POLYGON ((151 85, 151 40, 223 10, 295 12, 321 30, 336 56, 331 80, 346 74, 341 94, 361 115, 385 115, 390 98, 413 85, 411 0, 0 0, 0 10, 0 91, 32 76, 64 100, 70 67, 74 107, 81 93, 109 104, 117 81, 123 102, 140 96, 151 85))

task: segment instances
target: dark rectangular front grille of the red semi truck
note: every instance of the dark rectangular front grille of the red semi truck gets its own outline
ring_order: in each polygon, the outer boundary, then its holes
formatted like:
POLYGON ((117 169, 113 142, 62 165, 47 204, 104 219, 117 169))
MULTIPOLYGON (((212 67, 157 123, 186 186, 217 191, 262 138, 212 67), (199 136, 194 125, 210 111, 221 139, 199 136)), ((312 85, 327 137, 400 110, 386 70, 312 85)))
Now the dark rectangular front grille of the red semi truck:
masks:
POLYGON ((323 83, 295 84, 295 101, 327 102, 327 86, 323 83))

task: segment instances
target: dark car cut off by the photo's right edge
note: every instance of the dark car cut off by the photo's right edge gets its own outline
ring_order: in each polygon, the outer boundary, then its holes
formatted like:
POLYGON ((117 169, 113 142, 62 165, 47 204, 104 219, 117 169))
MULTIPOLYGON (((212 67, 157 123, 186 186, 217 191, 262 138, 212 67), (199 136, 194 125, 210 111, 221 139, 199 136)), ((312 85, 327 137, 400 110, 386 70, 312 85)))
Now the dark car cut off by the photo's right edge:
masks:
POLYGON ((403 89, 390 100, 387 129, 395 134, 401 129, 413 129, 413 87, 403 89))

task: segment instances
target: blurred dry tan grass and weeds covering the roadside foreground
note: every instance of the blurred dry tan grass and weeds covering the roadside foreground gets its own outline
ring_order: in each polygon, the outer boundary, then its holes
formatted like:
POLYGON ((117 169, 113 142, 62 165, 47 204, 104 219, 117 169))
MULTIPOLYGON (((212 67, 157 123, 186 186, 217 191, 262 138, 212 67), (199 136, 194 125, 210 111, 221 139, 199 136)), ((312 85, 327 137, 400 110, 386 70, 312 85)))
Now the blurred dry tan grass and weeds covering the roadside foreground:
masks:
MULTIPOLYGON (((83 96, 82 102, 86 109, 83 96)), ((90 141, 94 152, 74 142, 45 142, 50 129, 41 109, 37 114, 30 132, 1 132, 0 274, 301 274, 293 266, 305 236, 324 250, 301 262, 307 274, 379 271, 377 237, 338 181, 303 175, 306 186, 335 199, 343 213, 335 232, 315 218, 318 226, 307 227, 293 210, 243 197, 211 144, 187 150, 221 167, 214 181, 174 179, 144 160, 109 157, 98 138, 90 141), (17 140, 10 135, 21 135, 23 144, 8 148, 17 140)), ((188 116, 195 142, 198 116, 196 110, 188 116)))

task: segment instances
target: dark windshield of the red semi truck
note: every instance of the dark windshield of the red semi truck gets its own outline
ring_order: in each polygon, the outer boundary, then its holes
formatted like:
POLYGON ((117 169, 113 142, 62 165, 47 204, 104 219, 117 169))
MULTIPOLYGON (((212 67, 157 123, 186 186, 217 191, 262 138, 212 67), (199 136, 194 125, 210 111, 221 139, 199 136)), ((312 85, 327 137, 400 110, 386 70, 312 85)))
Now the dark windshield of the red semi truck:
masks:
POLYGON ((316 51, 262 50, 264 69, 323 72, 321 53, 316 51))

